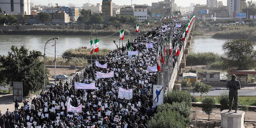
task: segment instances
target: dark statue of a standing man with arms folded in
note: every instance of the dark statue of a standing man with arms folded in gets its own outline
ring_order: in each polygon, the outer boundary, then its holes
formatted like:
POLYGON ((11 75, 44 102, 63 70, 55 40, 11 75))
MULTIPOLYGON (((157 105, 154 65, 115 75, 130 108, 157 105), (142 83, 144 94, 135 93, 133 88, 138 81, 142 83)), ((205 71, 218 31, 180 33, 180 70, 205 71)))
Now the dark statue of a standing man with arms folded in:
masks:
POLYGON ((233 97, 234 97, 234 102, 235 102, 235 109, 236 109, 236 112, 237 113, 237 107, 238 107, 238 92, 237 92, 237 89, 240 89, 241 88, 241 85, 240 85, 240 81, 238 81, 236 79, 236 75, 232 75, 232 79, 228 81, 227 85, 226 85, 227 88, 229 88, 229 94, 228 94, 228 99, 229 99, 229 111, 231 111, 231 108, 232 108, 232 102, 233 102, 233 97))

